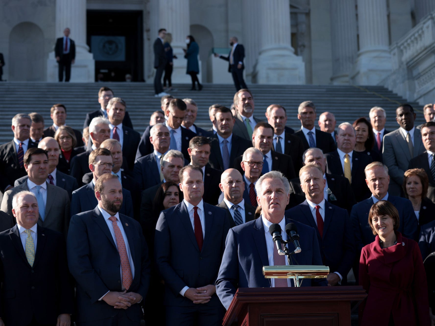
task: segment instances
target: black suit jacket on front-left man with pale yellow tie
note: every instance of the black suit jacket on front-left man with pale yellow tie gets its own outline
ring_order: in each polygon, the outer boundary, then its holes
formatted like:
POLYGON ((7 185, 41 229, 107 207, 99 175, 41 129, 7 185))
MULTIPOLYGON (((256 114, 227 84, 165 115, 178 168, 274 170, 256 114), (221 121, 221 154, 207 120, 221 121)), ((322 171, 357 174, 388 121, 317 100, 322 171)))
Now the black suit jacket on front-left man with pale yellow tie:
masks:
POLYGON ((33 318, 56 325, 61 313, 74 312, 74 287, 60 233, 37 226, 33 266, 27 262, 17 225, 0 233, 0 247, 0 316, 6 325, 30 325, 33 318))

